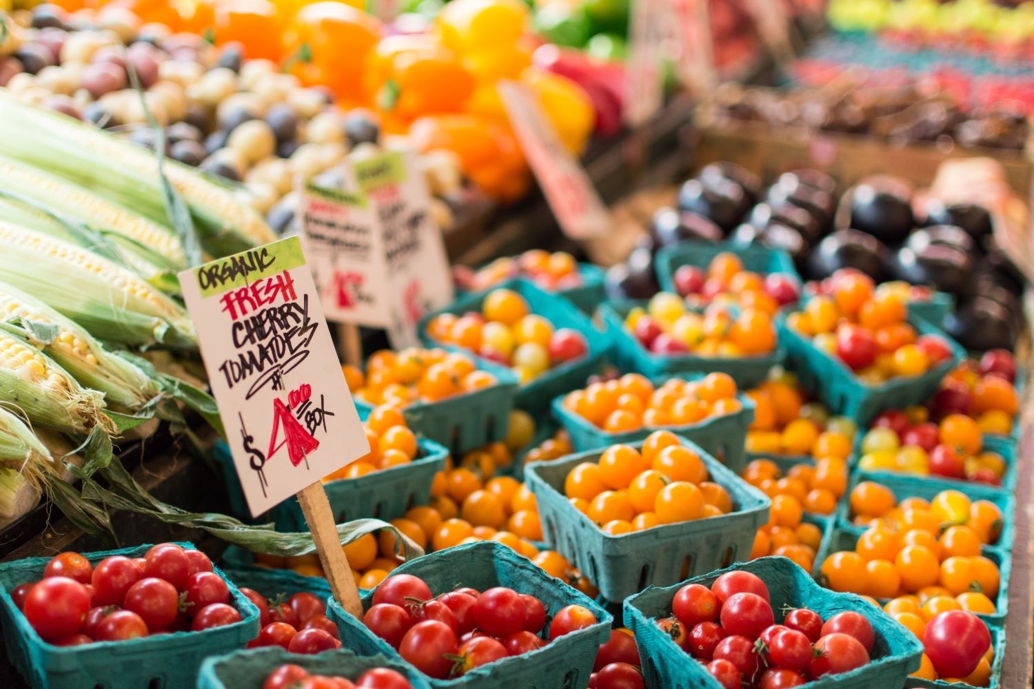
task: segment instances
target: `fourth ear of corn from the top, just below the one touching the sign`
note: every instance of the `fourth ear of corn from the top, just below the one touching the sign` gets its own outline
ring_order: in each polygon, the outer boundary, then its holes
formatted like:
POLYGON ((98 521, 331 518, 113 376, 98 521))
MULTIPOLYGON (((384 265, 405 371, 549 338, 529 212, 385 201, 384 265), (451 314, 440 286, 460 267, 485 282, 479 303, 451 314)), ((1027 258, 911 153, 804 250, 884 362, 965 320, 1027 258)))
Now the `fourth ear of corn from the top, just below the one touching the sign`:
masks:
POLYGON ((42 350, 80 383, 103 393, 109 405, 136 411, 159 394, 140 368, 105 350, 86 330, 39 300, 3 282, 0 323, 42 350))

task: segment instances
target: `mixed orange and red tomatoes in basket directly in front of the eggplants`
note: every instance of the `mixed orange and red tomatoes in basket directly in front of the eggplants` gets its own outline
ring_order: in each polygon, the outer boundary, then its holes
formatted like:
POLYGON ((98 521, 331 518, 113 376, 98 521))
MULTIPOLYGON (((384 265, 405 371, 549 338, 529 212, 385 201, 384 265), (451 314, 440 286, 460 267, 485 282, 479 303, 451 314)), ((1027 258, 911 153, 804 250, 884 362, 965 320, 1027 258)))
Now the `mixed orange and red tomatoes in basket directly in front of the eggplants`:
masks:
POLYGON ((877 288, 856 271, 838 271, 828 291, 787 316, 787 326, 811 338, 864 383, 918 376, 951 357, 944 338, 918 335, 906 318, 908 305, 894 289, 877 288))

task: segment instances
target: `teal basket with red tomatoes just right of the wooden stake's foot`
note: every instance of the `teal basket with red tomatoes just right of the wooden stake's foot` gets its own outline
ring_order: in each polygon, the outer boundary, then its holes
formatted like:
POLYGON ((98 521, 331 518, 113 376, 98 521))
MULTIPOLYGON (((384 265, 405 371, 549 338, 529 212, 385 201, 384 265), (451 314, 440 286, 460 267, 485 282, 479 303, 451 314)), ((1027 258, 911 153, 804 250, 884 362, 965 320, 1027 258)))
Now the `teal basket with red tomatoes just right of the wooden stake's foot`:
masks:
POLYGON ((329 602, 345 647, 401 660, 440 688, 585 686, 612 620, 584 594, 492 541, 400 565, 362 602, 362 620, 329 602))

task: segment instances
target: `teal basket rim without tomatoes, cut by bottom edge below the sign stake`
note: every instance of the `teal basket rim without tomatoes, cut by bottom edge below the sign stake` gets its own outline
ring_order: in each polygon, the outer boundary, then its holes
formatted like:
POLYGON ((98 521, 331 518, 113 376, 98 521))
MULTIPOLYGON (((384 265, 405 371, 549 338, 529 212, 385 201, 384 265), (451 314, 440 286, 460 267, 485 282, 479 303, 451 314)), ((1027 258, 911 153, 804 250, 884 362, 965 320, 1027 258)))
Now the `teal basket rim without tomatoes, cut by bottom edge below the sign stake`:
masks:
POLYGON ((270 672, 286 663, 301 665, 311 675, 343 677, 346 680, 358 680, 363 672, 374 667, 387 667, 403 675, 413 689, 428 689, 420 672, 384 656, 361 658, 344 649, 314 656, 300 655, 287 653, 279 647, 209 658, 202 665, 197 689, 261 689, 270 672))

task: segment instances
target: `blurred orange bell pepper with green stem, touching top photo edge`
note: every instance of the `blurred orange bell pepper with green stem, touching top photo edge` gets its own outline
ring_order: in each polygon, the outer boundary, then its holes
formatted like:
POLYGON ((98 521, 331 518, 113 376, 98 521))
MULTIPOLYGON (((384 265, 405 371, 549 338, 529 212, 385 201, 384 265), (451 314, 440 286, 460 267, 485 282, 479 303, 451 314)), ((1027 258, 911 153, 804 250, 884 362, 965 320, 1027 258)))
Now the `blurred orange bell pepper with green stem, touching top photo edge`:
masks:
POLYGON ((285 36, 285 66, 306 86, 326 86, 358 100, 367 58, 381 38, 376 18, 340 2, 302 7, 285 36))

